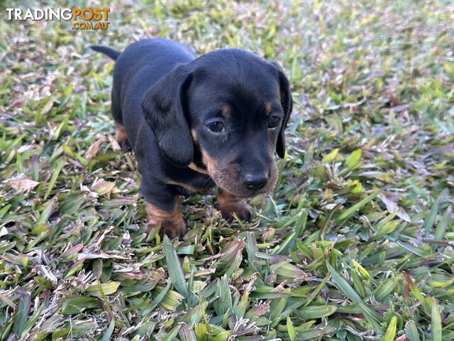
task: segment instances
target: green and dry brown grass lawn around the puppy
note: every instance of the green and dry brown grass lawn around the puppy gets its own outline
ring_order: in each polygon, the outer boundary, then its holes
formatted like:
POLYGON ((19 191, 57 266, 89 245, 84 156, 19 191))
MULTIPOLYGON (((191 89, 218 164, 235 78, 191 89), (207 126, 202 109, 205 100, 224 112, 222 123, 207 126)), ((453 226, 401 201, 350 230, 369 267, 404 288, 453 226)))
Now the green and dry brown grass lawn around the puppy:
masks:
POLYGON ((453 2, 144 2, 97 4, 106 31, 2 3, 0 340, 454 340, 453 2), (183 241, 144 232, 89 45, 157 36, 284 67, 287 157, 253 222, 198 195, 183 241))

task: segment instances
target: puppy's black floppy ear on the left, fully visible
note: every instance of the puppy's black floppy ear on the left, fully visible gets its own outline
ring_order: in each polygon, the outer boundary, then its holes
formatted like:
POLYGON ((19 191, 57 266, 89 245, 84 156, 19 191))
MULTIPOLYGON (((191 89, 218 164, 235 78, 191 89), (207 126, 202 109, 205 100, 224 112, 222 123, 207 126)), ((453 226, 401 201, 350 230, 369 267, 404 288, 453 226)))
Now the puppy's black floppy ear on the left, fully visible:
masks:
POLYGON ((184 167, 192 162, 194 145, 186 119, 185 97, 192 80, 188 65, 177 65, 145 93, 143 114, 168 161, 184 167))

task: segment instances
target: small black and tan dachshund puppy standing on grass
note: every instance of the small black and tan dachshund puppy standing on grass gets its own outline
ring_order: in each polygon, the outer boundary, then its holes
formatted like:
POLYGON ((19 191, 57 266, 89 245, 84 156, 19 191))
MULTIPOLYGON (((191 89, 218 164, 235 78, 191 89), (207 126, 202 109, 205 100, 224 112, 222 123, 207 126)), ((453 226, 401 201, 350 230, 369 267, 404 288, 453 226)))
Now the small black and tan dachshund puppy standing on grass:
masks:
POLYGON ((239 49, 196 58, 167 39, 140 40, 122 53, 92 48, 116 60, 116 138, 135 153, 148 224, 182 237, 178 195, 216 186, 223 216, 250 220, 245 198, 272 190, 273 153, 285 152, 292 96, 279 67, 239 49))

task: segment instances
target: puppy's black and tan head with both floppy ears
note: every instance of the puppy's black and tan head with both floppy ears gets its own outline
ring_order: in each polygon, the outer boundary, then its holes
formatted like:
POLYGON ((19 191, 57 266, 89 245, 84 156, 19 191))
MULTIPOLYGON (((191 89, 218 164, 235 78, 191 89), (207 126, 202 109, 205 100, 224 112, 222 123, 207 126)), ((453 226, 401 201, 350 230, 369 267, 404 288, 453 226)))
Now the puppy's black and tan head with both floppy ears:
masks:
POLYGON ((239 197, 267 193, 284 157, 292 112, 279 66, 244 50, 208 53, 179 65, 143 100, 145 119, 168 161, 205 167, 219 188, 239 197))

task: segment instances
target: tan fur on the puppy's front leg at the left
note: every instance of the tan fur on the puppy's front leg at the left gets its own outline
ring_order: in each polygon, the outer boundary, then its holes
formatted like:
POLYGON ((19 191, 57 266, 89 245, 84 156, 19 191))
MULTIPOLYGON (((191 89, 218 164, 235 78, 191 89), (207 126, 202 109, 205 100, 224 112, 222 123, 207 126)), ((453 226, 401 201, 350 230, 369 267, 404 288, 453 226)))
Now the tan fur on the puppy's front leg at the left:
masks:
POLYGON ((161 235, 174 239, 183 236, 187 232, 181 212, 179 212, 179 200, 177 198, 175 207, 172 211, 160 210, 150 202, 145 202, 145 210, 148 217, 148 225, 155 227, 161 224, 161 235))

